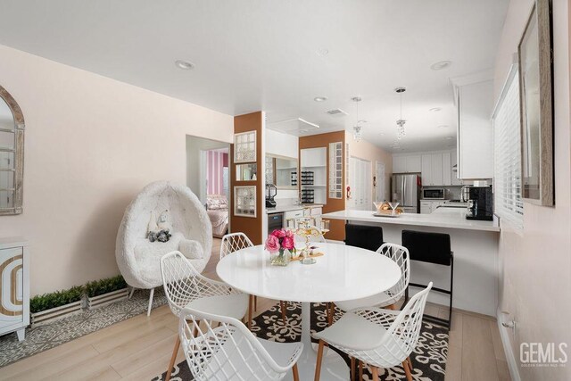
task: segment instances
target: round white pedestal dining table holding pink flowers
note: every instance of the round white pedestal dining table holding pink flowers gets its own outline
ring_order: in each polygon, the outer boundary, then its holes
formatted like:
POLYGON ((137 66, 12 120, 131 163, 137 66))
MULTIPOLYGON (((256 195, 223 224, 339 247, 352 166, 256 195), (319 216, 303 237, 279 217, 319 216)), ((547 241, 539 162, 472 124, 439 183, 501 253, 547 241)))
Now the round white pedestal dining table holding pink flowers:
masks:
MULTIPOLYGON (((292 261, 272 266, 262 245, 238 250, 222 258, 216 272, 229 286, 246 293, 287 302, 302 302, 301 380, 313 379, 317 353, 311 345, 310 303, 340 302, 382 293, 394 286, 401 269, 385 255, 344 244, 315 243, 317 263, 292 261)), ((285 379, 291 379, 288 372, 285 379)), ((349 379, 349 367, 333 350, 324 353, 321 380, 349 379)))

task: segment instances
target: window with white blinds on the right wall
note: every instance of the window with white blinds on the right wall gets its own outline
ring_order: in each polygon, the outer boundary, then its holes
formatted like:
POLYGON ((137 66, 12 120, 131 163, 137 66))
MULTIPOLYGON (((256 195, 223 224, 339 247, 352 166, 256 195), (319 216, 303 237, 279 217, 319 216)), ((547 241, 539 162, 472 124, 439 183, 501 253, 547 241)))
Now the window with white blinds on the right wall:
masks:
POLYGON ((494 208, 501 219, 523 228, 519 102, 519 80, 514 65, 492 116, 494 208))

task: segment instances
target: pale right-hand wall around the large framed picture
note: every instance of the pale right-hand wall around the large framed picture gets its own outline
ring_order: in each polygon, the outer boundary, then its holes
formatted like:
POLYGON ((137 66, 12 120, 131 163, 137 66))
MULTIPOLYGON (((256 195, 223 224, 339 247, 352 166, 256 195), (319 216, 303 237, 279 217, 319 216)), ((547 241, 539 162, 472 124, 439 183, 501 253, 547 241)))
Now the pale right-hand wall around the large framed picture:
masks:
MULTIPOLYGON (((532 0, 511 0, 495 72, 496 99, 525 28, 532 0)), ((555 207, 524 205, 524 230, 502 226, 500 311, 517 321, 511 347, 567 343, 571 360, 571 136, 569 134, 569 25, 567 0, 553 0, 555 99, 555 207)), ((519 365, 519 364, 517 364, 519 365)), ((555 368, 519 368, 524 380, 571 379, 571 363, 555 368)))

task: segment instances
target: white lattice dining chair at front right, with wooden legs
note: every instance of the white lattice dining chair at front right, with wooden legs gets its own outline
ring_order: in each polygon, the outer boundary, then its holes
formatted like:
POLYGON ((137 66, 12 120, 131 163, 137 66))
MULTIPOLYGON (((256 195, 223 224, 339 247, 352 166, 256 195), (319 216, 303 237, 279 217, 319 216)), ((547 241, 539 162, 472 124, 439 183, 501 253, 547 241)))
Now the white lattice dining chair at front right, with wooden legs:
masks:
POLYGON ((352 376, 355 374, 354 360, 360 360, 371 367, 373 381, 378 381, 378 368, 393 368, 402 364, 408 381, 410 374, 410 353, 418 343, 422 315, 426 306, 432 282, 415 294, 402 311, 364 308, 352 310, 343 315, 331 327, 313 335, 319 340, 315 381, 319 381, 321 360, 325 344, 347 353, 352 358, 352 376))

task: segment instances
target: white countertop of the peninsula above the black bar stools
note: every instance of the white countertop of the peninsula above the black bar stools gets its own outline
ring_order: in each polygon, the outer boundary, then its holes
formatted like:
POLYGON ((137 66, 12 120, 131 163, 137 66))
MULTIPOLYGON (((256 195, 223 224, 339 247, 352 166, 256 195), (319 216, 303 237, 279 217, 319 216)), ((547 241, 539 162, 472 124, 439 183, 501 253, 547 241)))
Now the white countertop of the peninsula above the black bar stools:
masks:
POLYGON ((323 218, 421 227, 500 231, 497 219, 493 221, 466 219, 466 209, 464 208, 438 208, 430 214, 402 213, 398 217, 377 217, 373 213, 374 211, 334 211, 324 214, 323 218))

